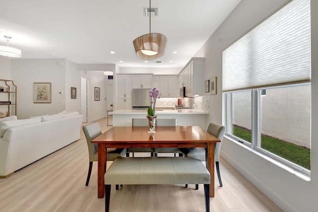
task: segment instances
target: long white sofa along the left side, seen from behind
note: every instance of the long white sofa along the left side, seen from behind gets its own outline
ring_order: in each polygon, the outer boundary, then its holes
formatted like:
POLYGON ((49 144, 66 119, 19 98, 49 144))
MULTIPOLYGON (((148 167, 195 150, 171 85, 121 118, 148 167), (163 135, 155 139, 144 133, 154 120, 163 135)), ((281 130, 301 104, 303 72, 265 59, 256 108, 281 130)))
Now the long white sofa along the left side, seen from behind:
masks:
POLYGON ((79 112, 0 121, 0 177, 78 140, 81 121, 79 112))

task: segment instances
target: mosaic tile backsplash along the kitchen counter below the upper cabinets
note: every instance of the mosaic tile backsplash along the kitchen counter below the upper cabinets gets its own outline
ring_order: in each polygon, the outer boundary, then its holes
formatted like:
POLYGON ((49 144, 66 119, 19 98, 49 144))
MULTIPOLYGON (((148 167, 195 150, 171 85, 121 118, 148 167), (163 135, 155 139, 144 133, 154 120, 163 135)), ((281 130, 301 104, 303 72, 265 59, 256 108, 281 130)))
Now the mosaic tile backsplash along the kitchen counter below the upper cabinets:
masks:
POLYGON ((156 101, 156 107, 174 107, 178 105, 178 99, 182 99, 182 104, 187 107, 209 111, 210 96, 183 97, 183 98, 160 98, 156 101))

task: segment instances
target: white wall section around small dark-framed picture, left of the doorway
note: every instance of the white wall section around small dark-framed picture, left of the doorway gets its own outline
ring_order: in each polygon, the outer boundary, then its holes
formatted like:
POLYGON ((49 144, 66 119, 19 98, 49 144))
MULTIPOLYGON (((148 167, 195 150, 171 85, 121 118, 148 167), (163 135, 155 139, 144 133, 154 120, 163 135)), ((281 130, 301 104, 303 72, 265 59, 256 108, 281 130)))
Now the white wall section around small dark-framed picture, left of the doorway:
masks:
POLYGON ((78 65, 70 60, 65 61, 65 109, 66 111, 78 111, 80 113, 81 83, 78 65), (71 87, 77 88, 76 99, 71 99, 71 87))

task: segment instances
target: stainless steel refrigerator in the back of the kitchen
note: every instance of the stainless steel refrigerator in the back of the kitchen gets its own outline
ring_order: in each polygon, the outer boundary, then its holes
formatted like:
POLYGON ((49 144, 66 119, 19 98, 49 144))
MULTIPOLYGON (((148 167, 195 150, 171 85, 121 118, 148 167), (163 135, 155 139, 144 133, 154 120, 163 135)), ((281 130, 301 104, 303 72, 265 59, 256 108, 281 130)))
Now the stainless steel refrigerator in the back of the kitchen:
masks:
POLYGON ((150 106, 149 92, 151 89, 133 89, 132 106, 133 108, 147 108, 150 106))

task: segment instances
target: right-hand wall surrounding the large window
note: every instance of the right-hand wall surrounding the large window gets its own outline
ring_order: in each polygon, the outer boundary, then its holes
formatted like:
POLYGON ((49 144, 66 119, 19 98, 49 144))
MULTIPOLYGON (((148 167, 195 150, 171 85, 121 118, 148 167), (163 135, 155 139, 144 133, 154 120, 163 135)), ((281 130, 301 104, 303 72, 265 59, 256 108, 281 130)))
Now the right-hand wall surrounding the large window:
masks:
MULTIPOLYGON (((210 96, 210 115, 207 122, 222 122, 222 51, 287 2, 289 0, 242 0, 195 55, 205 57, 205 79, 218 77, 218 94, 210 96)), ((318 211, 318 144, 315 142, 318 137, 318 95, 315 94, 318 91, 317 19, 318 1, 312 0, 311 181, 304 181, 226 137, 222 141, 221 156, 286 212, 318 211)))

